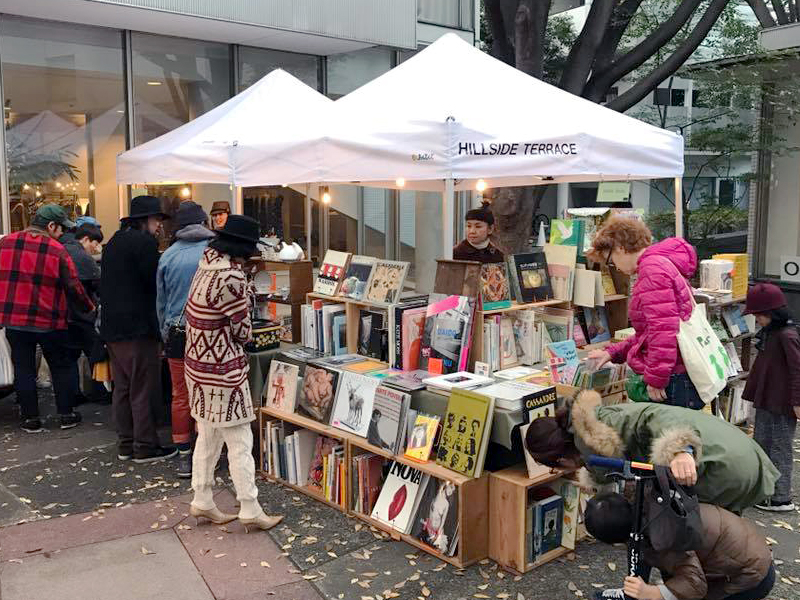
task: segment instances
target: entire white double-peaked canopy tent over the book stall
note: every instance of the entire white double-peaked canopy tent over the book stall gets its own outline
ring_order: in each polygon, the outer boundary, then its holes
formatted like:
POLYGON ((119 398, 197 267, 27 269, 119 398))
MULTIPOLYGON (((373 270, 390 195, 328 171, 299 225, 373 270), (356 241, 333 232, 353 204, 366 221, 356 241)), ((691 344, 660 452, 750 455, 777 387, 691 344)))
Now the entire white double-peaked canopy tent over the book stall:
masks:
MULTIPOLYGON (((330 102, 283 71, 120 155, 119 183, 355 183, 442 191, 675 178, 681 136, 548 85, 447 34, 330 102)), ((678 196, 679 197, 679 196, 678 196)), ((676 231, 681 234, 681 203, 676 231)), ((309 220, 310 222, 310 220, 309 220)))

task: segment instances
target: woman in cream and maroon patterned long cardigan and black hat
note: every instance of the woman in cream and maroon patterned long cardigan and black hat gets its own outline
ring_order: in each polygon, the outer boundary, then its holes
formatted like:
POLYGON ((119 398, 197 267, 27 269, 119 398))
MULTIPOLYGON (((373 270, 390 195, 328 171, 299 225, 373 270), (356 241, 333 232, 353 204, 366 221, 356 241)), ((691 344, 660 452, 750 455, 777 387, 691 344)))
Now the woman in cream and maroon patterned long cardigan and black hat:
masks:
POLYGON ((258 503, 250 428, 256 417, 244 351, 253 328, 242 265, 255 254, 258 233, 255 219, 231 215, 203 252, 189 289, 184 365, 192 417, 197 422, 192 459, 194 499, 189 513, 213 523, 236 519, 217 508, 212 493, 214 467, 225 444, 239 500, 239 521, 245 528, 270 529, 283 517, 267 516, 258 503))

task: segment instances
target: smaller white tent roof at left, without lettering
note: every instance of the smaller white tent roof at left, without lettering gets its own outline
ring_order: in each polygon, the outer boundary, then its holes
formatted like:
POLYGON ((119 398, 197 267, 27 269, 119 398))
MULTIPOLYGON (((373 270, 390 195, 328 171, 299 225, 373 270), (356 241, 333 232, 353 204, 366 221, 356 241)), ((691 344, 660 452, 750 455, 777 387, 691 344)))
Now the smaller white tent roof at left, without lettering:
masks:
POLYGON ((120 154, 117 181, 263 185, 312 180, 316 176, 308 169, 316 154, 305 152, 313 152, 316 119, 332 103, 276 69, 213 110, 120 154), (281 159, 287 148, 294 149, 299 163, 281 159))

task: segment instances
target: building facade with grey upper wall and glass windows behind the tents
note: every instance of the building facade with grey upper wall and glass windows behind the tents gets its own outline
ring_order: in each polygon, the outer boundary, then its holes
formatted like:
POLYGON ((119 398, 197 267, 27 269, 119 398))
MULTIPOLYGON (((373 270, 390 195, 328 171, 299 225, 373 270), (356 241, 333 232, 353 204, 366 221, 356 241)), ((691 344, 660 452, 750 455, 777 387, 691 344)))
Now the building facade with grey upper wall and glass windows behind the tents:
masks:
MULTIPOLYGON (((225 102, 275 68, 331 98, 385 73, 455 31, 476 42, 474 0, 0 0, 5 120, 0 152, 4 232, 43 201, 117 228, 116 157, 225 102)), ((226 186, 133 186, 176 206, 229 200, 226 186)), ((244 190, 265 233, 305 239, 305 197, 244 190)), ((416 262, 439 256, 441 202, 358 186, 313 202, 312 248, 416 262), (435 213, 435 214, 434 214, 435 213), (439 217, 437 218, 437 214, 439 217), (428 239, 430 238, 430 239, 428 239)), ((438 197, 437 197, 438 198, 438 197)))

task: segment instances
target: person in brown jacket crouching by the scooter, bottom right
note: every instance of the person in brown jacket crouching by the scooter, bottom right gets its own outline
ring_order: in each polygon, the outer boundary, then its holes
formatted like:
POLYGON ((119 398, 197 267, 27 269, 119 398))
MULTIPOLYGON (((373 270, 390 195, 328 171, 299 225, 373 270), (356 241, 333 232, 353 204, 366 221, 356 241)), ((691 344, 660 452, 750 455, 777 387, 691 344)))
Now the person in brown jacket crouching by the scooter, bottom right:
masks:
MULTIPOLYGON (((642 558, 664 578, 648 585, 626 577, 624 591, 638 600, 761 600, 775 584, 775 566, 767 540, 750 521, 732 512, 700 504, 701 544, 691 552, 655 552, 647 544, 642 558)), ((606 544, 628 541, 633 508, 624 496, 598 494, 586 506, 586 529, 606 544)))

